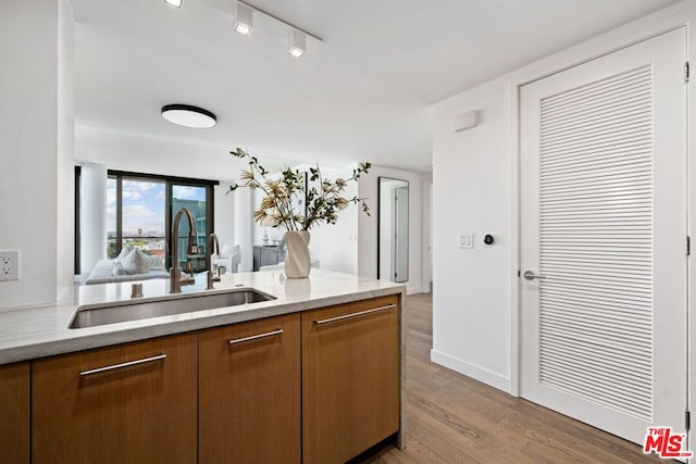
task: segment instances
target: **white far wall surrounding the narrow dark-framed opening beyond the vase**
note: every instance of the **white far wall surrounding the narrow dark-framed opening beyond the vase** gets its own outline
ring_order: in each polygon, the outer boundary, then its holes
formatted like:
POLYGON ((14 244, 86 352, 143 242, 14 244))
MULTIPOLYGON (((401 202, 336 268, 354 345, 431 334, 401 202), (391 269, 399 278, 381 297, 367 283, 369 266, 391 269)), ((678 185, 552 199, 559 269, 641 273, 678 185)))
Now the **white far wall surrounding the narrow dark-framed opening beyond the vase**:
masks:
POLYGON ((377 190, 378 177, 391 177, 409 183, 409 281, 406 283, 408 293, 428 291, 422 288, 422 231, 423 231, 423 184, 422 174, 410 171, 372 166, 370 174, 360 178, 358 196, 368 199, 371 215, 360 213, 358 216, 358 275, 361 277, 377 276, 377 190))

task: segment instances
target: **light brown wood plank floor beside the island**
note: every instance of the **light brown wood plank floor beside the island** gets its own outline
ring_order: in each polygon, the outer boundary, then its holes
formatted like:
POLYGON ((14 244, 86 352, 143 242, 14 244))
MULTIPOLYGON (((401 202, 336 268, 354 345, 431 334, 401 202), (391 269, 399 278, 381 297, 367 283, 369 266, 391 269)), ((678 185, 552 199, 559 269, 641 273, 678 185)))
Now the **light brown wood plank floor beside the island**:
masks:
POLYGON ((432 298, 406 301, 407 449, 359 463, 655 463, 641 447, 430 362, 432 298))

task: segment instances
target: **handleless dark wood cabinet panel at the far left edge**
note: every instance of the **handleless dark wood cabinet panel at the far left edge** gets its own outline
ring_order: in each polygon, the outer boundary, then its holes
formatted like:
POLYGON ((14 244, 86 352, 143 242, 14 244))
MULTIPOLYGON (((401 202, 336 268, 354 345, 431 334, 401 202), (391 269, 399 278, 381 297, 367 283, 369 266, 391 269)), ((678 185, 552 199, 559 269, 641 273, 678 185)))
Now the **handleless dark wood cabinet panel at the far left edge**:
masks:
POLYGON ((29 462, 29 364, 0 367, 0 461, 29 462))

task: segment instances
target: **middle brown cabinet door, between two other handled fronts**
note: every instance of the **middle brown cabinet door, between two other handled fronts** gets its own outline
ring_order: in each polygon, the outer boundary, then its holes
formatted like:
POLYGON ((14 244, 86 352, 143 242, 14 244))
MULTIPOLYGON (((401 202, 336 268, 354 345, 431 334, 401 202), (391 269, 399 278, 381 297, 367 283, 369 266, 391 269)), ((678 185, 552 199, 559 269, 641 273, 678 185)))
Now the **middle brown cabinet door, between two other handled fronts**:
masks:
POLYGON ((199 335, 200 463, 299 463, 300 315, 199 335))

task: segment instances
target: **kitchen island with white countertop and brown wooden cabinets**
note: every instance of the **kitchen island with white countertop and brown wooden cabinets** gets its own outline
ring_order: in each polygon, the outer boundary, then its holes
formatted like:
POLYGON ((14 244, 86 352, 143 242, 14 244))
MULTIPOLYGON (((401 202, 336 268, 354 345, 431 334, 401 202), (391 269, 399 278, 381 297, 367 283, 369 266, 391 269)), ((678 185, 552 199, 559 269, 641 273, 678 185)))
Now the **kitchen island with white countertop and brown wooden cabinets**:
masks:
POLYGON ((32 462, 330 463, 402 443, 402 285, 321 269, 204 280, 177 296, 145 281, 144 299, 130 283, 80 287, 74 303, 0 313, 0 388, 30 386, 32 462), (69 328, 104 304, 245 289, 273 299, 69 328))

